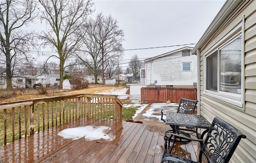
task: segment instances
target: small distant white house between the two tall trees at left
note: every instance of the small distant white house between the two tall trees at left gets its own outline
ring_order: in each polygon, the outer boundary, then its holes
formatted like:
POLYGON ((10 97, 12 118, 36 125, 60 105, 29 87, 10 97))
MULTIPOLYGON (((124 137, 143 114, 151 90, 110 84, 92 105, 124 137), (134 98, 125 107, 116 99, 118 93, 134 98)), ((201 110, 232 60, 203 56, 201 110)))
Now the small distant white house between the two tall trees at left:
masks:
POLYGON ((35 76, 37 78, 36 84, 41 83, 43 86, 57 86, 60 85, 59 74, 39 74, 35 76))

